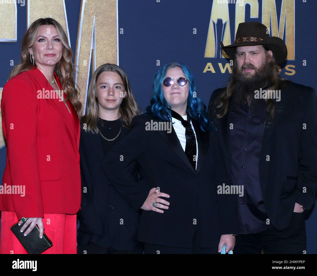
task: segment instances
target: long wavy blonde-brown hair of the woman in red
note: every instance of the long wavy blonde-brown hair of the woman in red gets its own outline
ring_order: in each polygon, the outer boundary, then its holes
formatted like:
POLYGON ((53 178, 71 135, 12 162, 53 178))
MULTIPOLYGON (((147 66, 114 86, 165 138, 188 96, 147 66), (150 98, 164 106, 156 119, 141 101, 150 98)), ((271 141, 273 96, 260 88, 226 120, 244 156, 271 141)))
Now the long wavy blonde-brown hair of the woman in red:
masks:
POLYGON ((29 26, 22 39, 21 62, 12 69, 9 75, 9 80, 24 71, 32 70, 33 66, 36 67, 36 63, 34 63, 33 65, 30 62, 30 54, 28 49, 34 44, 37 37, 38 29, 42 25, 54 25, 61 39, 61 43, 63 44, 62 57, 60 62, 55 65, 54 71, 61 81, 62 90, 66 95, 64 101, 69 99, 69 101, 74 105, 78 116, 81 116, 82 104, 77 99, 79 91, 75 88, 74 81, 73 51, 68 45, 67 35, 65 31, 63 30, 61 24, 59 24, 55 19, 39 18, 29 26))

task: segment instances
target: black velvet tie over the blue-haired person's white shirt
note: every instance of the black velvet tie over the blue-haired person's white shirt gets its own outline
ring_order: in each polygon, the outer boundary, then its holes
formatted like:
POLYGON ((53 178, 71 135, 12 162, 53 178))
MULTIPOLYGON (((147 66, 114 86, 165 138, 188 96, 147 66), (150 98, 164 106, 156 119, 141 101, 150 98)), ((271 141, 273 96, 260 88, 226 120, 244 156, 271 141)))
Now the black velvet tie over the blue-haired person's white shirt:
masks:
POLYGON ((185 154, 191 163, 194 171, 196 171, 196 155, 197 155, 197 149, 196 149, 196 137, 195 133, 191 127, 191 118, 189 117, 187 113, 187 120, 184 120, 182 116, 180 116, 177 112, 174 110, 171 110, 171 115, 173 118, 181 121, 182 125, 185 128, 185 138, 186 138, 186 146, 185 146, 185 154))

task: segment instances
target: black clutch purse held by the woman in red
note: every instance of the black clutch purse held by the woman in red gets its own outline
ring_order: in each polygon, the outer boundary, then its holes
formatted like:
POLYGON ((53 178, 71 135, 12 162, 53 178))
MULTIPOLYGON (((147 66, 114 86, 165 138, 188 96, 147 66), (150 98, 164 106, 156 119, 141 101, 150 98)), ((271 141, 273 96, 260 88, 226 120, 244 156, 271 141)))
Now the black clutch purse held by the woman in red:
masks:
POLYGON ((53 246, 53 243, 48 238, 48 236, 46 236, 45 233, 43 233, 43 237, 42 239, 40 239, 40 230, 37 225, 33 228, 31 232, 29 232, 28 235, 24 236, 24 232, 26 231, 26 229, 25 231, 20 232, 24 223, 25 222, 23 222, 20 226, 18 225, 19 222, 12 225, 11 231, 13 232, 13 234, 15 234, 16 238, 29 254, 41 254, 42 252, 53 246))

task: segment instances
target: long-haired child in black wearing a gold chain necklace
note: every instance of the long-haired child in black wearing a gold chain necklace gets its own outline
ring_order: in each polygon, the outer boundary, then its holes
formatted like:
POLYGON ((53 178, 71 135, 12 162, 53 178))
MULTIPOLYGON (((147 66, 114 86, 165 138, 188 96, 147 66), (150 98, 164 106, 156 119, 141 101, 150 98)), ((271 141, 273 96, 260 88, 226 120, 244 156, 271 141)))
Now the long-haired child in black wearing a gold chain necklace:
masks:
MULTIPOLYGON (((136 240, 140 211, 126 203, 101 168, 139 114, 125 71, 115 64, 101 65, 91 78, 86 114, 81 118, 78 254, 142 253, 136 240)), ((137 162, 129 164, 129 171, 138 181, 137 162)))

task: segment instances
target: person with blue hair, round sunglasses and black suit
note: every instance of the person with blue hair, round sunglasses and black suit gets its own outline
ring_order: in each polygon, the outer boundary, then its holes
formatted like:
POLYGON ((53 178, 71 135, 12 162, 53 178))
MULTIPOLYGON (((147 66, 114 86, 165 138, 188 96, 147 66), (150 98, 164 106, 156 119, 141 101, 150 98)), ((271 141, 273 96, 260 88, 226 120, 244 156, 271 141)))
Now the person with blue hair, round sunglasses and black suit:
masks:
POLYGON ((186 65, 165 64, 147 113, 133 118, 102 163, 113 187, 134 210, 143 210, 138 240, 146 254, 217 254, 235 245, 235 199, 217 193, 217 185, 230 180, 196 90, 186 65), (128 169, 134 160, 144 173, 139 182, 128 169))

